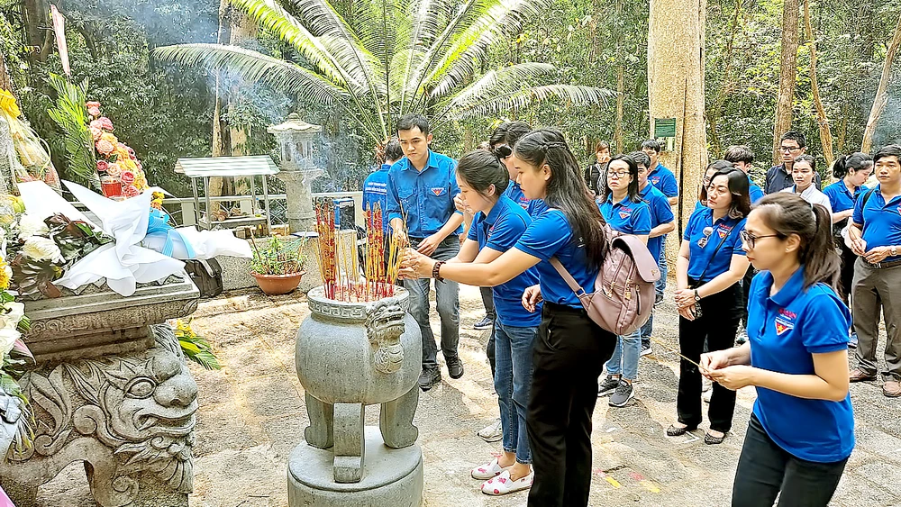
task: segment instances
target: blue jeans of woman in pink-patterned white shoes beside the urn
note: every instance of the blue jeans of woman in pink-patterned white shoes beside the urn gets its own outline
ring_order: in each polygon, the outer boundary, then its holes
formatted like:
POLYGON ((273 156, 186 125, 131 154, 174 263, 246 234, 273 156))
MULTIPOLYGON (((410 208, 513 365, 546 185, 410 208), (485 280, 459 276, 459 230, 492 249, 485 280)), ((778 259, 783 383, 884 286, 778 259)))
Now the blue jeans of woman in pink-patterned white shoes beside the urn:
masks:
POLYGON ((516 461, 532 463, 525 414, 532 386, 532 344, 538 327, 514 328, 495 321, 495 391, 501 410, 504 450, 515 452, 516 461))

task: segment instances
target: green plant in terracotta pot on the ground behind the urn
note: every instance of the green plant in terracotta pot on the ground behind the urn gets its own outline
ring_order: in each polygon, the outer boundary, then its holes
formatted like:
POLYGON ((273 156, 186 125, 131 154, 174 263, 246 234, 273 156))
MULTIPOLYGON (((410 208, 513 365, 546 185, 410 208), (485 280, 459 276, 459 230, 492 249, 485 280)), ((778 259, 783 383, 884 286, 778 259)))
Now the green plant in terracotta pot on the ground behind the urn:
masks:
POLYGON ((268 295, 287 294, 297 288, 304 271, 304 240, 281 240, 272 237, 262 249, 252 237, 253 259, 250 260, 250 275, 257 279, 257 285, 268 295))

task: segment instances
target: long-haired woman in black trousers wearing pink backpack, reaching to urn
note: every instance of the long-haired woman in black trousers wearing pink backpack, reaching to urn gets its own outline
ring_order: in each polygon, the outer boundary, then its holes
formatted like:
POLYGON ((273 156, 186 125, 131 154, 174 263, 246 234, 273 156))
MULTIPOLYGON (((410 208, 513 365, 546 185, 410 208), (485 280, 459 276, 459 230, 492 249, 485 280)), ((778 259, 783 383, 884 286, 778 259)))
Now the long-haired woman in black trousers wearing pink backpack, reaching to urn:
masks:
POLYGON ((537 267, 540 285, 522 296, 542 321, 532 351, 532 390, 526 428, 532 449, 532 507, 585 506, 591 484, 591 414, 597 377, 615 346, 613 333, 588 317, 551 265, 558 258, 579 285, 593 286, 605 256, 604 222, 589 196, 578 162, 560 131, 541 129, 516 143, 513 164, 529 199, 548 208, 516 241, 488 263, 445 263, 407 249, 402 274, 434 276, 469 285, 501 285, 537 267))

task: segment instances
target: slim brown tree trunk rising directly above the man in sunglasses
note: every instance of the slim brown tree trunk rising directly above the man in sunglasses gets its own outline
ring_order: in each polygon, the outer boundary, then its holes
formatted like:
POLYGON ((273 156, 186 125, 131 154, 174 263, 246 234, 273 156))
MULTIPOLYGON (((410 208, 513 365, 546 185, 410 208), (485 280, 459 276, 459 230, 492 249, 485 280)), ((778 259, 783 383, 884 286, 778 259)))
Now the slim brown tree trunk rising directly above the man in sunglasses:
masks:
POLYGON ((782 134, 791 130, 792 107, 795 104, 797 75, 797 0, 785 0, 782 12, 782 67, 779 69, 779 99, 776 122, 773 123, 773 165, 782 163, 779 142, 782 134))

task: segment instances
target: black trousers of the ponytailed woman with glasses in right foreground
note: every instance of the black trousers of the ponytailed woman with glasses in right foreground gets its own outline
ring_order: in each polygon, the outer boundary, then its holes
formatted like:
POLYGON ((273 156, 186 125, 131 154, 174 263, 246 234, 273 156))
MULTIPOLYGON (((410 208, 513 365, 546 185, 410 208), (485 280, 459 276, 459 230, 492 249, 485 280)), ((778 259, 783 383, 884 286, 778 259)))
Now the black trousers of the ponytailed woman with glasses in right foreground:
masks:
POLYGON ((751 415, 733 484, 733 507, 826 507, 842 478, 848 458, 815 463, 778 447, 751 415), (781 492, 781 494, 779 494, 781 492))

